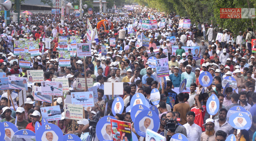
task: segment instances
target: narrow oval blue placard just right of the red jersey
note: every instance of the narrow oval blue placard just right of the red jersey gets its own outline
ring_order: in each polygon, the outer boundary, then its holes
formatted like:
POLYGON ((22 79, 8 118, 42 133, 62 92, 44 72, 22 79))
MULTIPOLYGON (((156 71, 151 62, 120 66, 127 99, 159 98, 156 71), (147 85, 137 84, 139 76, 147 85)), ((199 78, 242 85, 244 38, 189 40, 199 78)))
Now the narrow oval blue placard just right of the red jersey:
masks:
POLYGON ((206 110, 209 115, 215 115, 220 108, 220 102, 215 94, 212 94, 206 102, 206 110))

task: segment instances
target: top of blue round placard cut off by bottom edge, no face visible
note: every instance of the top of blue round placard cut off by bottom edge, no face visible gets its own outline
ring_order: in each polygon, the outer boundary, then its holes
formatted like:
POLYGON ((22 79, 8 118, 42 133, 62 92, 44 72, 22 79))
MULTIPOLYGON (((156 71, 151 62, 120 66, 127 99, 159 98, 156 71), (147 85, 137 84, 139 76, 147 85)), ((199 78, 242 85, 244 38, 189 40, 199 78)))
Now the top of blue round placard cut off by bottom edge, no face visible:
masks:
POLYGON ((33 131, 28 129, 18 130, 17 132, 14 133, 12 137, 13 141, 17 141, 17 140, 26 141, 28 139, 36 140, 36 134, 33 131))

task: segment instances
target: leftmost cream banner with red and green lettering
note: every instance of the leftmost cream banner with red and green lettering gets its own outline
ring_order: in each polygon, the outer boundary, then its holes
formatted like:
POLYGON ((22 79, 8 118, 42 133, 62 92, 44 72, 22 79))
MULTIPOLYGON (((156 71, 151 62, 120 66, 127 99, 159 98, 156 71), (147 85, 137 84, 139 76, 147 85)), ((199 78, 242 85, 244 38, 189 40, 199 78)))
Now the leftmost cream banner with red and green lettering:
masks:
POLYGON ((44 80, 43 70, 27 70, 28 83, 41 83, 44 80))

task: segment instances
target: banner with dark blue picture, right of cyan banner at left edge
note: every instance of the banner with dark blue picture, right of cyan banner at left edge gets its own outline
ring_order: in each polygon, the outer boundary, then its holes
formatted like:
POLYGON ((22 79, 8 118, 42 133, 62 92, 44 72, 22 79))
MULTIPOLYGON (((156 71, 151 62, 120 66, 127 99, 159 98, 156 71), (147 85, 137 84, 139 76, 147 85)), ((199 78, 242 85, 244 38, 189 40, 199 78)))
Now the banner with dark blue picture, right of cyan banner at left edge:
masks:
POLYGON ((9 88, 11 89, 18 89, 22 90, 23 88, 26 88, 26 91, 28 91, 28 79, 24 77, 16 77, 16 76, 8 76, 9 78, 9 88))

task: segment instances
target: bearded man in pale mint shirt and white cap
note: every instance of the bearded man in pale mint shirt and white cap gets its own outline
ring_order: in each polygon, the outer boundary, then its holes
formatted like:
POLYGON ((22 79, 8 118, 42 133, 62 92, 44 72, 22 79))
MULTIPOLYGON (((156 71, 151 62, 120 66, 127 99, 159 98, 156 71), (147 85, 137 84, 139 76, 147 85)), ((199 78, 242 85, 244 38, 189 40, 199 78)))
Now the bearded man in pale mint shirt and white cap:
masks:
POLYGON ((191 72, 191 65, 186 66, 186 72, 181 74, 181 82, 183 79, 187 79, 186 87, 190 87, 190 84, 196 82, 196 75, 195 73, 191 72))

